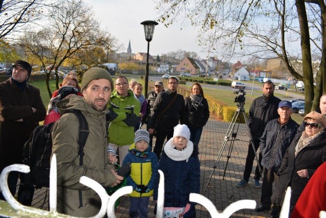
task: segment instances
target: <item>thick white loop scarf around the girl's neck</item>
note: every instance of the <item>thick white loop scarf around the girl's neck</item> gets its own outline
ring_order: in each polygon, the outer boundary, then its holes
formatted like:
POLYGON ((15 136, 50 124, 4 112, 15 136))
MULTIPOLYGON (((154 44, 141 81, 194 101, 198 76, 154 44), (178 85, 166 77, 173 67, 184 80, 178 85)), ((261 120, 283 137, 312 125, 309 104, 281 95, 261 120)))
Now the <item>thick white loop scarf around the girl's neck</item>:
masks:
POLYGON ((175 161, 182 161, 185 160, 188 162, 189 157, 193 154, 194 151, 194 144, 190 140, 188 140, 188 143, 186 147, 183 148, 183 150, 179 151, 174 149, 174 143, 173 138, 170 138, 169 141, 164 146, 164 151, 168 155, 169 158, 175 161))

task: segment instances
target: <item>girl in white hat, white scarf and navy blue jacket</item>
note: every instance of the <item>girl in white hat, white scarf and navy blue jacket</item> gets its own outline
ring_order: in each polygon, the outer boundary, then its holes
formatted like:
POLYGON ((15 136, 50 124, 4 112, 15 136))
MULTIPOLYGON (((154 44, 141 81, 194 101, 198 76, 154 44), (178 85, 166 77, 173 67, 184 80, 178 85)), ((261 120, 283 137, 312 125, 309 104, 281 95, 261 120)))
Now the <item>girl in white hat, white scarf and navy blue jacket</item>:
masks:
MULTIPOLYGON (((164 173, 164 207, 184 208, 183 217, 196 217, 194 202, 189 202, 190 193, 199 193, 200 162, 198 150, 189 140, 190 131, 186 125, 174 127, 173 138, 164 146, 159 159, 160 169, 164 173)), ((159 175, 155 182, 154 201, 157 201, 159 175)))

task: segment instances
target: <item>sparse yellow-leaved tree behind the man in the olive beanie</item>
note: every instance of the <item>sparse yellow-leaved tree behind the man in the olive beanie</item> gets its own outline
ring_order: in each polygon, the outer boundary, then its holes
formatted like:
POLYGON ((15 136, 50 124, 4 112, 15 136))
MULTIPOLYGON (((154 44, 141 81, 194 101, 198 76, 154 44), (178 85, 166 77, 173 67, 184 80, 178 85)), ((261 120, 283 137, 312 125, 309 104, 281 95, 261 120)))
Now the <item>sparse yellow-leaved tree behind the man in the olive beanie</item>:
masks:
MULTIPOLYGON (((26 33, 19 43, 42 63, 51 96, 49 79, 52 71, 55 71, 56 86, 59 88, 58 67, 69 58, 80 57, 83 53, 88 56, 85 52, 94 51, 96 47, 102 47, 104 54, 103 49, 108 47, 110 35, 100 31, 99 22, 93 17, 94 12, 82 0, 60 0, 58 5, 48 10, 48 14, 46 26, 26 33), (46 69, 48 64, 51 66, 49 70, 46 69)), ((114 45, 111 44, 111 47, 114 45)))

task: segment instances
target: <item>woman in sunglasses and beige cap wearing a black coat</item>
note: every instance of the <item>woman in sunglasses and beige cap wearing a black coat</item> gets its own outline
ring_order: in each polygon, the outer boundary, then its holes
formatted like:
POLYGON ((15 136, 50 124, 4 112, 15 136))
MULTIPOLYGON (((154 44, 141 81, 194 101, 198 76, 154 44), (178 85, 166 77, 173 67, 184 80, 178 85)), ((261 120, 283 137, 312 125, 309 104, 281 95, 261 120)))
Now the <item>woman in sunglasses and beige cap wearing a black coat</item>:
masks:
POLYGON ((326 116, 312 111, 305 118, 305 131, 295 135, 278 171, 279 183, 271 196, 271 217, 278 217, 283 192, 291 186, 290 214, 309 179, 326 161, 326 116))

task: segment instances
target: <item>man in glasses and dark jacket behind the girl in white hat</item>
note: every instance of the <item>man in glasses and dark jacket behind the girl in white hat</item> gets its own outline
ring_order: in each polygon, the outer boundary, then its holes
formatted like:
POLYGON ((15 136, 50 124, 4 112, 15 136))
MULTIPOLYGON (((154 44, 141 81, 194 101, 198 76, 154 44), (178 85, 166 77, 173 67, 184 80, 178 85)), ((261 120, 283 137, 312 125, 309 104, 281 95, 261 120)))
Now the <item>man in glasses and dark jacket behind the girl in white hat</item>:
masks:
POLYGON ((149 134, 156 131, 154 153, 159 159, 165 138, 173 136, 173 128, 184 124, 184 99, 177 93, 178 79, 171 76, 168 80, 169 90, 160 92, 155 99, 149 123, 149 134), (172 104, 170 104, 172 102, 172 104))

